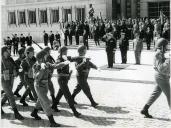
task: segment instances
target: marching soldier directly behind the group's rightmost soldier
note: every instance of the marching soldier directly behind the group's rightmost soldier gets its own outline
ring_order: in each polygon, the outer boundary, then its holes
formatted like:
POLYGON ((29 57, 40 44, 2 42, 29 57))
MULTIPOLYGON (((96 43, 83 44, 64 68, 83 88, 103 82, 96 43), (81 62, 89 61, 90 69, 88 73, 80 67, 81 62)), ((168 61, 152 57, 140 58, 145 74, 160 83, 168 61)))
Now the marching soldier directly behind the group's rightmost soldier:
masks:
MULTIPOLYGON (((67 57, 67 47, 63 46, 59 49, 59 57, 57 59, 57 63, 64 62, 66 60, 74 61, 71 57, 67 57)), ((79 117, 81 114, 77 112, 75 106, 74 106, 74 100, 71 96, 71 93, 68 88, 68 81, 70 79, 71 72, 69 71, 69 65, 64 66, 63 68, 60 68, 57 70, 58 72, 58 83, 59 83, 59 91, 56 96, 55 104, 52 105, 52 108, 56 111, 59 111, 57 109, 57 104, 59 103, 59 100, 64 95, 65 99, 67 100, 70 108, 72 109, 74 116, 79 117)))

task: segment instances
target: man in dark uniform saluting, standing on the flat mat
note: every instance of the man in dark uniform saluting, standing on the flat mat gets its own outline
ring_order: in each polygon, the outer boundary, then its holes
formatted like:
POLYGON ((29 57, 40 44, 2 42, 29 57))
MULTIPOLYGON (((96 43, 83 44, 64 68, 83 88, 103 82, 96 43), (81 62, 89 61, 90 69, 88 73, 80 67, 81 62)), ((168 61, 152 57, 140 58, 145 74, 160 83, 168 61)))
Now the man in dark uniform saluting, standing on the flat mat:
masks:
POLYGON ((106 42, 106 53, 107 53, 107 60, 108 60, 108 68, 113 68, 113 56, 114 51, 116 49, 116 39, 113 37, 111 32, 104 35, 103 39, 106 42))

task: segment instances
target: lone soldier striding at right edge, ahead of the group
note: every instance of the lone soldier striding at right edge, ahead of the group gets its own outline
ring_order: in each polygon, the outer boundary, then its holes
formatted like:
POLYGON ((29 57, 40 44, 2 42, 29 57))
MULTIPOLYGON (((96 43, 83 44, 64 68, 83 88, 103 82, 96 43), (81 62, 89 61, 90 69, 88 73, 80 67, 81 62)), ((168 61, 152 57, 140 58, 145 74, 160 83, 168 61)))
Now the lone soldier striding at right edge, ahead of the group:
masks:
POLYGON ((148 109, 150 106, 158 99, 160 94, 163 92, 166 95, 168 105, 171 109, 171 99, 170 99, 170 57, 165 58, 164 53, 166 51, 166 46, 168 41, 164 38, 158 39, 156 42, 156 52, 154 57, 154 70, 155 70, 155 81, 156 87, 151 94, 148 102, 145 104, 141 114, 145 115, 147 118, 152 118, 149 114, 148 109))

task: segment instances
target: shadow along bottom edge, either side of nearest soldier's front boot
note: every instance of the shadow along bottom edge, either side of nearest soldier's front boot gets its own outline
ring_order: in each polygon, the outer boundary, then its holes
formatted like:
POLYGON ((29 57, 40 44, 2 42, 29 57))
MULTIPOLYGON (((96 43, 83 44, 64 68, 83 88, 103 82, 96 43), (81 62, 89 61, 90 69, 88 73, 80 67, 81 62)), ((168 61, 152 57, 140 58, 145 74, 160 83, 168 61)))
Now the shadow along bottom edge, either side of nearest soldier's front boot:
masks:
MULTIPOLYGON (((48 120, 46 119, 42 119, 42 120, 34 120, 33 118, 28 118, 28 117, 25 117, 24 120, 22 121, 10 121, 12 124, 15 124, 15 125, 23 125, 23 126, 27 126, 27 127, 49 127, 50 126, 50 123, 48 120)), ((69 125, 63 125, 61 124, 61 127, 75 127, 75 126, 69 126, 69 125)))

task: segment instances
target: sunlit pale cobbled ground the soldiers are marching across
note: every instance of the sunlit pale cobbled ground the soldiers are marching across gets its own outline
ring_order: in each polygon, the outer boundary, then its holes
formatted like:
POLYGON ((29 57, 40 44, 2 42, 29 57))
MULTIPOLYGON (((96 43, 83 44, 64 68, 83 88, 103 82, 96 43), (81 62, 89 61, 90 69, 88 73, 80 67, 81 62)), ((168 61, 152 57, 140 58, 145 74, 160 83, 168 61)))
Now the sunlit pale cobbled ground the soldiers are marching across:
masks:
MULTIPOLYGON (((38 49, 36 49, 36 52, 38 49)), ((54 58, 57 52, 52 52, 54 58)), ((69 55, 75 56, 75 49, 69 50, 69 55)), ((89 84, 94 99, 100 104, 97 109, 90 106, 89 100, 80 92, 76 97, 79 103, 76 107, 82 113, 81 118, 75 118, 69 109, 65 99, 62 98, 59 105, 61 112, 55 113, 55 120, 64 127, 115 127, 115 128, 170 128, 171 120, 168 116, 171 114, 167 106, 166 98, 162 94, 157 102, 151 107, 150 112, 154 119, 146 119, 140 114, 140 110, 146 103, 149 95, 155 86, 153 78, 153 52, 142 52, 142 65, 134 65, 133 51, 128 52, 128 64, 120 64, 120 52, 116 52, 116 64, 113 69, 106 68, 106 54, 104 50, 90 50, 87 53, 91 61, 101 67, 101 72, 91 70, 89 84)), ((74 70, 69 82, 70 91, 76 85, 74 64, 71 64, 74 70)), ((18 79, 18 78, 17 78, 18 79)), ((14 89, 18 80, 14 83, 14 89)), ((53 83, 58 90, 56 71, 54 72, 53 83)), ((21 94, 24 89, 21 90, 21 94)), ((29 101, 29 100, 28 100, 29 101)), ((29 101, 29 107, 22 107, 17 99, 18 108, 21 114, 26 118, 24 121, 14 119, 13 112, 8 104, 3 108, 6 115, 1 118, 1 127, 48 127, 47 117, 43 112, 39 115, 43 118, 41 121, 35 121, 30 116, 34 104, 29 101)))

